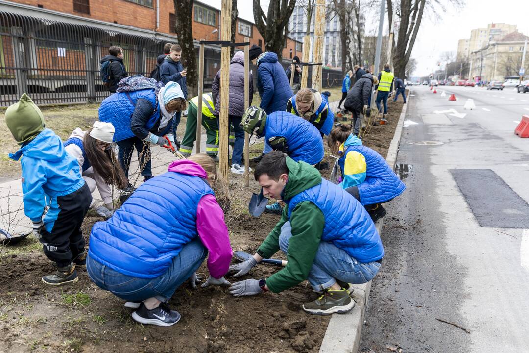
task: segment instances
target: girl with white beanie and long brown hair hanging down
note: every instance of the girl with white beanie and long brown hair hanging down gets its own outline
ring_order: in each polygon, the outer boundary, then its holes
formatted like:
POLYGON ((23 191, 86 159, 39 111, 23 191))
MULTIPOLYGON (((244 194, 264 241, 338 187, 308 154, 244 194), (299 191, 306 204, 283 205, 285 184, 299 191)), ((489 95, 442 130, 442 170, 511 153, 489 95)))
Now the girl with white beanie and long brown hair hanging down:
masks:
POLYGON ((104 219, 111 218, 114 213, 110 185, 115 185, 118 190, 127 186, 125 173, 112 149, 113 137, 114 126, 111 123, 96 121, 92 130, 77 128, 65 141, 66 152, 77 159, 90 193, 93 194, 97 186, 103 204, 101 200, 92 198, 90 208, 104 219))

